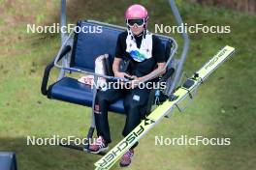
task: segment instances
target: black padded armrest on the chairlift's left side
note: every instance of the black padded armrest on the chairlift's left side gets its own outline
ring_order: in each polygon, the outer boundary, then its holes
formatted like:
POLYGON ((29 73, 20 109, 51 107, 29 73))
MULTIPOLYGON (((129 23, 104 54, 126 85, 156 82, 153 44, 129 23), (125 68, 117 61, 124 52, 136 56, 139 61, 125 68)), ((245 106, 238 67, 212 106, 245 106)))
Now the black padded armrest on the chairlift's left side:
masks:
MULTIPOLYGON (((65 46, 65 48, 63 48, 63 50, 61 51, 61 53, 59 55, 58 61, 61 60, 70 50, 71 50, 70 45, 65 46)), ((42 85, 41 85, 41 92, 45 96, 48 95, 48 76, 49 76, 49 72, 54 67, 54 61, 55 61, 55 58, 48 64, 48 66, 46 67, 45 72, 44 72, 44 77, 43 77, 42 85)))

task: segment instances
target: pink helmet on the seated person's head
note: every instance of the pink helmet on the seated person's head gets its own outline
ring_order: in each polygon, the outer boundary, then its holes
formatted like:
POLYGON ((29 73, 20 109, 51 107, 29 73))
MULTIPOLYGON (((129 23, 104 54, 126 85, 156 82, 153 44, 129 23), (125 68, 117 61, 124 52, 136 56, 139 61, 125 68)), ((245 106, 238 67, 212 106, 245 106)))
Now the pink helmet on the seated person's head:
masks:
POLYGON ((147 17, 144 6, 139 4, 131 5, 125 12, 125 19, 144 19, 146 21, 147 17))

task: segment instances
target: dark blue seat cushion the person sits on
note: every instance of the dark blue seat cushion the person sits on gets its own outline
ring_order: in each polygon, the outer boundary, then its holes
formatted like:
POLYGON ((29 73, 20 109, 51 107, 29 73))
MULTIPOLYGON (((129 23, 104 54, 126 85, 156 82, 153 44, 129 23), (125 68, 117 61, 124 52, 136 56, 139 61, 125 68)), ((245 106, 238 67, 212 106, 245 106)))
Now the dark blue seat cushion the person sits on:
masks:
MULTIPOLYGON (((68 101, 84 106, 92 105, 92 89, 89 85, 80 83, 77 79, 64 77, 48 88, 48 98, 68 101)), ((112 103, 109 108, 112 112, 125 113, 123 99, 112 103)))

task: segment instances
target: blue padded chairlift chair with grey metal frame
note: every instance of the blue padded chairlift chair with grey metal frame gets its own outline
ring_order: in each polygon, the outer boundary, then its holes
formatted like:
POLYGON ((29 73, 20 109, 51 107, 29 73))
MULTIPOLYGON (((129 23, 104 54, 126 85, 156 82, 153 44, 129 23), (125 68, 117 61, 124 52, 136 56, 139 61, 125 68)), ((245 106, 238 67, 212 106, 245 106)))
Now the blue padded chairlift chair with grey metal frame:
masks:
MULTIPOLYGON (((169 0, 176 22, 181 25, 182 19, 176 8, 175 0, 169 0)), ((61 16, 60 25, 66 25, 66 0, 61 0, 61 16)), ((81 20, 77 26, 91 26, 102 28, 102 33, 90 34, 83 32, 76 32, 75 30, 69 35, 61 33, 61 47, 45 69, 44 77, 41 86, 41 92, 48 99, 57 99, 70 103, 92 107, 91 125, 87 133, 87 139, 93 135, 95 128, 94 122, 94 100, 97 89, 94 87, 80 83, 76 78, 69 76, 69 73, 80 72, 84 74, 94 75, 94 81, 98 77, 105 77, 107 79, 114 79, 112 75, 101 75, 94 72, 95 58, 102 54, 109 54, 110 59, 114 57, 114 49, 118 35, 126 30, 125 27, 99 22, 95 20, 81 20), (48 77, 51 69, 55 67, 59 69, 58 79, 48 85, 48 77)), ((162 50, 165 51, 166 57, 166 74, 164 79, 167 82, 168 88, 163 91, 167 97, 172 97, 178 81, 180 79, 183 63, 186 59, 186 54, 189 46, 189 39, 186 33, 182 33, 183 48, 179 57, 175 58, 177 50, 177 42, 174 38, 155 34, 162 43, 162 50)), ((155 94, 153 93, 153 97, 155 94)), ((155 98, 153 98, 155 99, 155 98)), ((148 111, 151 110, 152 102, 148 103, 148 111)), ((109 110, 115 113, 124 114, 123 99, 119 99, 112 103, 109 110)), ((84 147, 66 146, 81 151, 87 151, 88 145, 84 147)))

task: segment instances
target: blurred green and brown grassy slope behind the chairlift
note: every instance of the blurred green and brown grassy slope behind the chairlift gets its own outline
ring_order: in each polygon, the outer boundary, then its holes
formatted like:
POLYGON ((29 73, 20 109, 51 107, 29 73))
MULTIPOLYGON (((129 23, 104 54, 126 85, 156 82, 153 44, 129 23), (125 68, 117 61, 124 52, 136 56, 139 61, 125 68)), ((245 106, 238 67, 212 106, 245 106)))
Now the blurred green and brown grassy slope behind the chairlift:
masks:
MULTIPOLYGON (((123 25, 125 8, 135 2, 148 8, 152 31, 154 23, 175 23, 168 3, 163 0, 74 0, 69 3, 69 22, 93 18, 123 25)), ((44 68, 56 54, 59 39, 57 35, 26 34, 26 24, 57 22, 59 1, 0 1, 0 5, 0 150, 15 151, 19 169, 93 169, 100 156, 60 147, 26 146, 27 135, 82 137, 90 124, 90 108, 49 100, 40 93, 44 68)), ((188 74, 199 69, 225 44, 235 46, 237 52, 212 74, 183 114, 174 112, 171 120, 162 121, 141 140, 130 169, 255 169, 256 17, 182 1, 178 5, 186 23, 231 25, 232 30, 231 34, 191 34, 184 66, 188 74), (231 145, 155 146, 155 135, 230 137, 231 145)), ((179 35, 169 36, 181 44, 179 35)), ((53 71, 50 80, 54 81, 56 76, 57 71, 53 71)), ((110 113, 112 146, 122 138, 124 120, 125 117, 110 113)))

